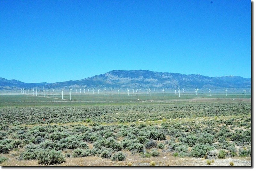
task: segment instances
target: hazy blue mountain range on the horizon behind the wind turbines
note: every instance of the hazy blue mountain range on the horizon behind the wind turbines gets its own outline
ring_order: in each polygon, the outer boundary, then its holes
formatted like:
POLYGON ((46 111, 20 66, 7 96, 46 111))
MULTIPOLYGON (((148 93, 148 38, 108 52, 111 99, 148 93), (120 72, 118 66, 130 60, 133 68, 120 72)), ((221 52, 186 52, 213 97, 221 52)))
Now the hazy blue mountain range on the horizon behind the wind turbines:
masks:
POLYGON ((106 88, 251 88, 251 78, 239 76, 207 77, 200 74, 175 74, 148 70, 120 71, 113 70, 77 81, 56 83, 24 83, 17 80, 0 78, 0 89, 20 89, 50 86, 54 88, 106 87, 106 88))

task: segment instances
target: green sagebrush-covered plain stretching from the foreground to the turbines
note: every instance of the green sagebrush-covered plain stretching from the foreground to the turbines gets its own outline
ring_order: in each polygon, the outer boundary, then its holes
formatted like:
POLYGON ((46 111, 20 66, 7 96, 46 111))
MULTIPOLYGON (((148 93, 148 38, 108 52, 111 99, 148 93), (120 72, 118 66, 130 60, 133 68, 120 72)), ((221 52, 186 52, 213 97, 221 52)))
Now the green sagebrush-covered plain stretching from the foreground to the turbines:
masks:
POLYGON ((154 160, 159 166, 204 166, 196 159, 212 150, 224 155, 216 166, 229 160, 251 165, 251 97, 195 97, 74 93, 70 101, 1 95, 1 165, 148 166, 154 160), (50 154, 60 161, 51 162, 50 154))

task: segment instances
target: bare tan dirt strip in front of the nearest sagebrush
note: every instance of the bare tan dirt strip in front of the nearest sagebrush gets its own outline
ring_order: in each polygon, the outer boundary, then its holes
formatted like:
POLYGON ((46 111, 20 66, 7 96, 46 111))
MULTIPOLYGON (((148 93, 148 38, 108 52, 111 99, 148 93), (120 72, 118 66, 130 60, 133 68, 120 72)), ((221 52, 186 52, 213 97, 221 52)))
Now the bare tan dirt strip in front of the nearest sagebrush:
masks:
MULTIPOLYGON (((156 166, 229 166, 230 162, 234 166, 251 166, 251 157, 226 157, 225 159, 214 159, 211 165, 206 164, 206 159, 198 159, 192 157, 174 157, 168 152, 163 152, 160 156, 141 158, 138 153, 132 154, 129 151, 124 152, 126 159, 124 161, 111 161, 110 159, 102 159, 96 156, 66 158, 66 162, 53 166, 127 166, 129 162, 132 166, 150 166, 151 161, 156 162, 156 166)), ((9 159, 2 163, 2 166, 39 166, 37 160, 17 160, 15 157, 4 155, 9 159)), ((41 165, 44 166, 44 165, 41 165)))

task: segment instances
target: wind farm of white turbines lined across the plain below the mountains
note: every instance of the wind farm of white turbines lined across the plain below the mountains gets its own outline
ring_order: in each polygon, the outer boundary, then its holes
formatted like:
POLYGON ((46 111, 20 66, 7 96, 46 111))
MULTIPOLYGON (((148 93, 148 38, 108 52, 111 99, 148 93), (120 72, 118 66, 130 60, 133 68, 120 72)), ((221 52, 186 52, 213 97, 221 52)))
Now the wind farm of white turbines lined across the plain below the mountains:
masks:
MULTIPOLYGON (((180 88, 179 87, 177 87, 178 88, 178 94, 179 94, 179 97, 180 97, 180 88)), ((183 88, 182 88, 183 89, 183 88)), ((52 89, 52 92, 53 92, 53 98, 54 98, 54 90, 55 89, 52 89)), ((71 88, 69 88, 69 95, 70 95, 70 100, 71 100, 71 88)), ((106 89, 103 89, 104 90, 104 94, 106 95, 106 89)), ((132 89, 133 90, 133 94, 134 94, 134 90, 136 91, 136 96, 138 96, 138 90, 139 90, 139 94, 141 94, 141 92, 140 92, 140 90, 141 89, 132 89)), ((147 90, 147 94, 149 94, 149 97, 151 97, 151 90, 153 90, 153 89, 150 89, 149 87, 147 88, 147 89, 145 89, 145 90, 147 90)), ((175 90, 175 95, 176 95, 176 90, 177 89, 174 89, 175 90)), ((197 88, 197 86, 196 86, 196 88, 195 88, 195 93, 196 93, 196 96, 197 96, 197 98, 199 98, 199 89, 197 88)), ((227 96, 227 89, 224 89, 225 90, 225 94, 226 94, 226 96, 227 96)), ((48 98, 50 98, 50 87, 48 88, 48 90, 46 90, 46 91, 48 91, 48 98)), ((61 89, 61 95, 62 95, 62 99, 63 99, 63 91, 64 91, 64 89, 61 89)), ((93 92, 93 94, 94 94, 94 88, 92 89, 92 92, 93 92)), ((111 91, 111 95, 113 95, 113 89, 111 89, 110 90, 111 91)), ((118 95, 120 95, 120 93, 119 93, 119 91, 120 91, 120 89, 118 89, 118 95)), ((128 93, 128 96, 130 96, 130 88, 127 88, 126 89, 126 91, 127 91, 127 93, 128 93)), ((163 94, 164 94, 164 91, 165 91, 165 89, 163 88, 163 94)), ((209 89, 209 92, 208 93, 210 93, 210 96, 211 96, 211 91, 212 90, 210 90, 209 89)), ((244 91, 244 96, 246 96, 246 90, 244 89, 243 90, 244 91)), ((44 93, 44 97, 45 97, 45 89, 44 89, 44 87, 43 87, 43 93, 44 93)), ((77 88, 76 88, 76 93, 78 93, 77 92, 77 88)), ((81 93, 81 89, 80 89, 80 93, 81 93)), ((85 89, 84 89, 84 93, 85 93, 85 89)), ((156 94, 156 89, 154 89, 154 93, 156 94)), ((185 95, 185 89, 183 89, 183 95, 185 95)), ((27 95, 32 95, 32 89, 21 89, 21 94, 27 94, 27 95), (29 94, 29 90, 30 90, 30 94, 29 94)), ((90 94, 90 89, 88 89, 88 94, 90 94)), ((100 94, 100 89, 98 89, 98 94, 100 94)), ((34 92, 34 88, 33 88, 33 96, 35 96, 35 92, 34 92)), ((36 96, 37 96, 37 88, 36 88, 36 96)), ((39 88, 39 96, 41 97, 41 89, 39 88)), ((165 97, 165 96, 164 96, 165 97)))

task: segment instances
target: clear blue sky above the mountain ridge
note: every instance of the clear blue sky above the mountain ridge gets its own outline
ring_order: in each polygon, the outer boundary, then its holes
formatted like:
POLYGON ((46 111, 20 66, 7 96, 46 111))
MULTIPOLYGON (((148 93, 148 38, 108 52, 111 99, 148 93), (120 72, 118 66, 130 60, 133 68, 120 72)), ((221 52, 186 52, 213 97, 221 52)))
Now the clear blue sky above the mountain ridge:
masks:
POLYGON ((0 77, 144 69, 251 78, 251 1, 3 1, 0 77), (211 3, 212 1, 212 3, 211 3))

